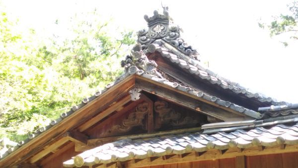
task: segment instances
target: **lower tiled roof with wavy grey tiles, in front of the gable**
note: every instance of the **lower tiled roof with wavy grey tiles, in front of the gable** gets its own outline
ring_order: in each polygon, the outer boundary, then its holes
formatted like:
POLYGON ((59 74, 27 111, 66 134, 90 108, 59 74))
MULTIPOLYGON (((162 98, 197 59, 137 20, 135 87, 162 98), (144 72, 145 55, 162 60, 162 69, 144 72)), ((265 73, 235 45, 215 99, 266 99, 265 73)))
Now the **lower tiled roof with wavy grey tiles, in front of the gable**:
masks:
POLYGON ((218 132, 212 135, 196 132, 150 139, 124 139, 85 151, 64 162, 64 166, 70 168, 92 166, 169 154, 226 150, 233 147, 241 149, 254 146, 273 147, 282 144, 298 144, 298 124, 276 125, 270 129, 259 127, 248 131, 218 132))

